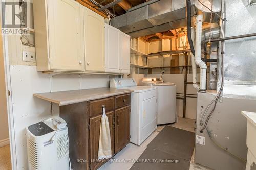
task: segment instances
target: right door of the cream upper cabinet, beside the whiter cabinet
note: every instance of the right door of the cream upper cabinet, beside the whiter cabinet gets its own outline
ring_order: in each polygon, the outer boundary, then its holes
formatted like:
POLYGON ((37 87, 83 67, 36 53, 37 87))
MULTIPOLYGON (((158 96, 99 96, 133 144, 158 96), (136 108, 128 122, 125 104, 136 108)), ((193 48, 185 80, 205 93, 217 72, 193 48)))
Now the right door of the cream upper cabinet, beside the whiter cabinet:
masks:
POLYGON ((104 18, 83 8, 86 71, 105 71, 104 18))

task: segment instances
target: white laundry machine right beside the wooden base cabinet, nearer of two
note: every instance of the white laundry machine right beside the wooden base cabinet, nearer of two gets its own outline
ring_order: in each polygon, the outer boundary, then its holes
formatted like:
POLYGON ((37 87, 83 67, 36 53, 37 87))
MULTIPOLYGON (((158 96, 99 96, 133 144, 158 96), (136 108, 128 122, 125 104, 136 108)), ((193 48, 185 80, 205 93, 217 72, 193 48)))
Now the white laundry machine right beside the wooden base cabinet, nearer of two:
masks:
POLYGON ((130 142, 140 145, 157 128, 157 89, 137 86, 134 79, 112 79, 110 88, 131 89, 130 142))

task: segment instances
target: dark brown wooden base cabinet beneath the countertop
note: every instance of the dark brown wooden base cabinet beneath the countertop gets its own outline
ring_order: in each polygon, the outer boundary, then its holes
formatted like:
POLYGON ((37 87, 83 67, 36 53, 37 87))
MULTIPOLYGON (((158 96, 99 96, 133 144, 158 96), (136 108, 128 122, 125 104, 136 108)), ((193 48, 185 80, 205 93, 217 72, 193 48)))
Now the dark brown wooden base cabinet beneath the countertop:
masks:
POLYGON ((60 106, 60 117, 69 128, 69 150, 72 169, 98 169, 107 159, 98 160, 102 105, 108 116, 112 156, 130 142, 131 95, 60 106))

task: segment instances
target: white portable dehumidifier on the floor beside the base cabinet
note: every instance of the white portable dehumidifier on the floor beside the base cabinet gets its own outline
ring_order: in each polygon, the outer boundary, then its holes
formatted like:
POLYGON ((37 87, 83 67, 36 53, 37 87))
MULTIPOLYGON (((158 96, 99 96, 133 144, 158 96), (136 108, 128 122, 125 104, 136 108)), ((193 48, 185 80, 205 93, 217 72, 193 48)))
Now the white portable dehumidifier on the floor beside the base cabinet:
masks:
POLYGON ((70 169, 66 125, 62 118, 51 117, 26 128, 29 170, 70 169))

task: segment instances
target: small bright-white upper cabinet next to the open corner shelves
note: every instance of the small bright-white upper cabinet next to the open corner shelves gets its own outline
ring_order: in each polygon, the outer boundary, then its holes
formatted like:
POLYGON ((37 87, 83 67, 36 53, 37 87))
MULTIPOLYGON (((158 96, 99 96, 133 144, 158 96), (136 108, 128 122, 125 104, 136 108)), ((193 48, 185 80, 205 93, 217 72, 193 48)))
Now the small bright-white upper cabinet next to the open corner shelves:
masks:
POLYGON ((105 72, 130 73, 130 36, 105 24, 105 72))

